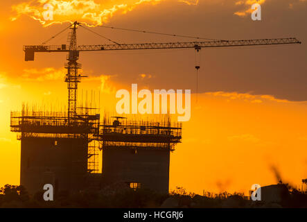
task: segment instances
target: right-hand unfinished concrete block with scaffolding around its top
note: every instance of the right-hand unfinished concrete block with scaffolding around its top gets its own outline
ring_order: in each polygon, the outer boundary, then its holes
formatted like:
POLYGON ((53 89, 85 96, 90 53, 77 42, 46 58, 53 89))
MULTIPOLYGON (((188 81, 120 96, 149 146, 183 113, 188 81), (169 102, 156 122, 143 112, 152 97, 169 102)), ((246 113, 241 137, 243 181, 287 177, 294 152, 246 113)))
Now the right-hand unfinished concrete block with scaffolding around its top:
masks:
POLYGON ((103 144, 103 180, 168 192, 170 151, 181 140, 182 123, 105 118, 98 139, 103 144))

